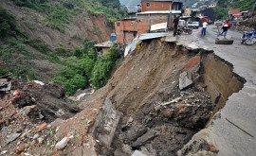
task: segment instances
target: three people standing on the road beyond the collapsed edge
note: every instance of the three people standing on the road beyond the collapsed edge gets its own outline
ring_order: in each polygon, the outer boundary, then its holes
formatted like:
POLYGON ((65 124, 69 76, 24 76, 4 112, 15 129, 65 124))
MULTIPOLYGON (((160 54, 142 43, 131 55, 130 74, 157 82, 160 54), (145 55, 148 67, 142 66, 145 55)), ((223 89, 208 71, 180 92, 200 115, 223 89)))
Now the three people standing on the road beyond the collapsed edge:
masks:
MULTIPOLYGON (((179 21, 179 17, 177 17, 176 15, 174 15, 174 36, 176 36, 177 34, 177 26, 178 26, 178 21, 179 21)), ((208 26, 208 23, 207 22, 204 22, 203 23, 203 27, 202 27, 202 31, 201 31, 201 37, 205 37, 206 36, 206 30, 207 30, 207 26, 208 26)), ((228 33, 228 30, 229 30, 229 27, 230 27, 230 22, 229 20, 227 20, 223 26, 222 26, 222 32, 218 35, 218 36, 224 36, 226 37, 227 36, 227 33, 228 33)))

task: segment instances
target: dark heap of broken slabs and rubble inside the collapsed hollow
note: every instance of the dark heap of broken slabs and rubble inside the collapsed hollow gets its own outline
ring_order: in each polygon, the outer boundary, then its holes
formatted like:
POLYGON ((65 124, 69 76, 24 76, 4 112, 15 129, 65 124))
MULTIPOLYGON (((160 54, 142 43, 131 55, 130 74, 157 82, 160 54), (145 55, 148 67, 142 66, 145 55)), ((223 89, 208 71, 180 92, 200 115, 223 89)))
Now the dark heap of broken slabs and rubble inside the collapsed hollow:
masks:
POLYGON ((175 81, 161 87, 164 92, 147 99, 119 126, 113 141, 116 150, 102 150, 102 154, 128 156, 136 150, 145 155, 176 155, 194 133, 205 127, 214 109, 200 80, 200 62, 200 56, 193 57, 180 74, 172 76, 175 81))

